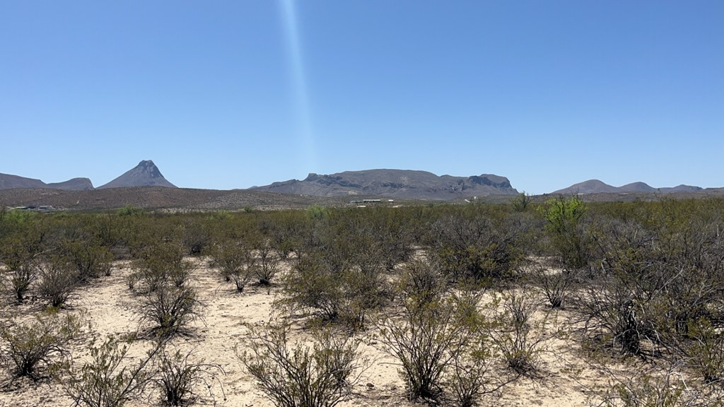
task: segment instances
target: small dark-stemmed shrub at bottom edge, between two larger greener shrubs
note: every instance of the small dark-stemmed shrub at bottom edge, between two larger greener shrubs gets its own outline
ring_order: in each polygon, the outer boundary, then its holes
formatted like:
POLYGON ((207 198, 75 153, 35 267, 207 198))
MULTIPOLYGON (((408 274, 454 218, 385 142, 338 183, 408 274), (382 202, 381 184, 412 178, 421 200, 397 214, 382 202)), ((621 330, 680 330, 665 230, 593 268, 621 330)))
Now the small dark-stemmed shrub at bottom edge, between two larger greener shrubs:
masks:
MULTIPOLYGON (((191 362, 189 358, 192 353, 168 353, 164 350, 157 359, 156 374, 152 381, 161 390, 161 401, 165 406, 185 406, 193 403, 198 398, 199 385, 206 387, 212 399, 214 393, 211 391, 211 382, 221 387, 218 375, 224 374, 224 369, 218 364, 191 362)), ((222 393, 223 391, 222 388, 222 393)))

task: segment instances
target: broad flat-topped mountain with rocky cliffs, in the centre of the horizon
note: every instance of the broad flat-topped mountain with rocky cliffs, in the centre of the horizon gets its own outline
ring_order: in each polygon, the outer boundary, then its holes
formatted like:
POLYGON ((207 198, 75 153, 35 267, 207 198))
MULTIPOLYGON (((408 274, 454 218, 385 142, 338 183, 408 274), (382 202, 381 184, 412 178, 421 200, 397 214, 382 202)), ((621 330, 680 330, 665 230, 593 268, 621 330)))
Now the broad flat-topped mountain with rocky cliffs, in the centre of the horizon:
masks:
POLYGON ((508 178, 498 175, 452 177, 408 169, 368 169, 331 175, 311 173, 304 180, 274 182, 249 189, 308 196, 388 196, 434 200, 518 193, 510 186, 508 178))

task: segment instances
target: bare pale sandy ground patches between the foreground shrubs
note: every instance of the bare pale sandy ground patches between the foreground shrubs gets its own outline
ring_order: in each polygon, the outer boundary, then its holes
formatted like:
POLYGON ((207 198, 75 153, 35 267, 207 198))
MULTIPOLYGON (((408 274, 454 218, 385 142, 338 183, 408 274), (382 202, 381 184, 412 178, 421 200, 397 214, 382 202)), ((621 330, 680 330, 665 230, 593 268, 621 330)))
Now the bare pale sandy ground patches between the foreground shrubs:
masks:
MULTIPOLYGON (((204 304, 201 314, 203 321, 194 322, 193 335, 175 337, 171 348, 193 351, 191 360, 217 364, 224 370, 219 383, 209 381, 213 386, 213 398, 203 388, 198 392, 205 397, 197 400, 200 406, 266 407, 273 404, 261 390, 235 356, 237 346, 243 349, 243 337, 247 331, 243 324, 259 324, 269 320, 274 301, 279 299, 279 288, 249 287, 244 293, 235 293, 232 285, 222 282, 219 274, 206 265, 206 261, 195 260, 198 267, 193 272, 191 284, 198 290, 204 304)), ((139 326, 136 304, 138 299, 127 288, 127 265, 119 262, 110 277, 101 277, 84 286, 72 296, 69 303, 73 309, 63 312, 85 311, 91 321, 92 331, 88 332, 85 343, 73 345, 71 352, 76 361, 88 357, 88 343, 93 338, 106 335, 122 335, 135 332, 139 326)), ((23 306, 6 306, 3 312, 39 312, 40 303, 23 306)), ((536 317, 542 318, 538 311, 536 317)), ((505 387, 500 398, 484 398, 482 406, 586 406, 586 397, 592 388, 606 385, 607 377, 584 362, 575 337, 556 337, 553 332, 565 327, 571 320, 567 311, 557 311, 548 316, 549 340, 544 342, 542 353, 543 374, 540 379, 518 379, 505 387)), ((374 332, 369 332, 374 333, 374 332)), ((292 339, 305 337, 303 327, 292 329, 292 339)), ((139 341, 132 345, 130 356, 140 356, 148 348, 148 342, 139 341)), ((363 345, 363 352, 373 363, 358 383, 358 395, 343 406, 414 406, 404 397, 404 384, 397 374, 395 359, 379 349, 377 345, 363 345)), ((70 406, 71 400, 62 394, 62 389, 49 381, 31 382, 20 379, 9 382, 7 372, 0 372, 0 406, 70 406)), ((159 393, 149 392, 146 399, 129 403, 129 406, 159 405, 159 393)))

